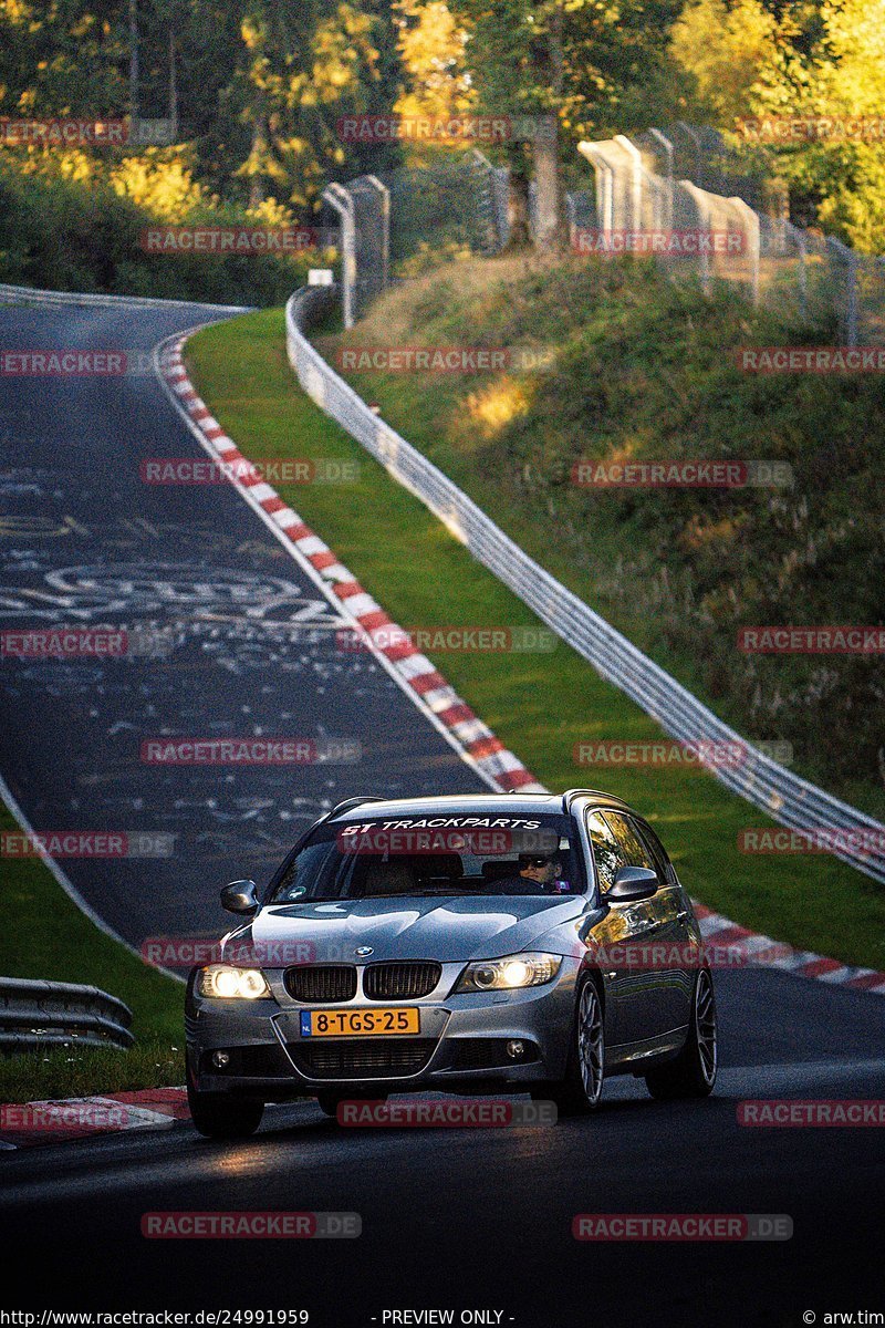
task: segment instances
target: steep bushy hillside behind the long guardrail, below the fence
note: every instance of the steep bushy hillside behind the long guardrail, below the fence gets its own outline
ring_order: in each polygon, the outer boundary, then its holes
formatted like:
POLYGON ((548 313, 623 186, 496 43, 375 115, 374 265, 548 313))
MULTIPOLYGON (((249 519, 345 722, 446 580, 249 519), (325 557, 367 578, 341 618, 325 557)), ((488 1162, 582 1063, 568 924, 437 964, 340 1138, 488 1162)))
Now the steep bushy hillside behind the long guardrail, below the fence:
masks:
MULTIPOLYGON (((880 624, 885 406, 873 374, 751 374, 808 344, 642 260, 452 263, 379 300, 358 347, 524 347, 539 373, 353 372, 362 396, 535 558, 755 740, 885 811, 881 656, 748 655, 760 624, 880 624), (581 459, 785 462, 792 487, 608 489, 581 459)), ((329 356, 336 347, 324 339, 329 356)), ((612 734, 617 737, 618 734, 612 734)))

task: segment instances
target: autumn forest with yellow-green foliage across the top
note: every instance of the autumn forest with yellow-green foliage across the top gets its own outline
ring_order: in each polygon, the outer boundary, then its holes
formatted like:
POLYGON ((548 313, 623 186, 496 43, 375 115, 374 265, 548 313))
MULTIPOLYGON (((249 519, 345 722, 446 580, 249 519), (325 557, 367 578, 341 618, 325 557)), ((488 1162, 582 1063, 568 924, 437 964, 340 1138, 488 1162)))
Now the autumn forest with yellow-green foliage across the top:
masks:
MULTIPOLYGON (((329 179, 421 159, 409 142, 344 142, 354 113, 552 114, 572 179, 588 175, 580 138, 869 117, 864 134, 772 146, 767 163, 796 218, 881 252, 884 106, 885 0, 0 0, 0 118, 166 120, 172 139, 4 146, 8 203, 11 177, 42 177, 155 218, 308 220, 329 179)), ((531 171, 527 147, 508 155, 531 171)))

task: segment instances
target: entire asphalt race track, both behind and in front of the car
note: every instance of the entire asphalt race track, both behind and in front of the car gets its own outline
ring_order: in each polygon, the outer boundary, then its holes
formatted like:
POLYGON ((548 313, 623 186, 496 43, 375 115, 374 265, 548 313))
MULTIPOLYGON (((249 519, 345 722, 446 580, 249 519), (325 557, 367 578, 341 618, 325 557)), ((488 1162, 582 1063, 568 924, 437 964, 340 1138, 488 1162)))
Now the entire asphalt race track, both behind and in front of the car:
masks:
MULTIPOLYGON (((149 348, 204 316, 12 309, 3 341, 149 348)), ((0 393, 4 629, 110 623, 174 643, 161 659, 3 661, 0 765, 31 823, 176 835, 174 858, 65 863, 127 940, 218 928, 218 886, 264 879, 338 797, 480 788, 378 665, 336 651, 334 612, 232 489, 141 482, 141 459, 195 454, 150 376, 0 378, 0 393), (256 730, 356 740, 362 760, 139 760, 158 733, 256 730)), ((3 1305, 304 1308, 313 1328, 405 1309, 455 1323, 491 1311, 487 1323, 520 1328, 881 1313, 882 1131, 748 1129, 736 1104, 885 1098, 885 1001, 751 969, 719 975, 718 992, 723 1069, 707 1102, 657 1104, 617 1080, 596 1118, 555 1127, 349 1130, 297 1104, 269 1109, 245 1143, 178 1125, 4 1154, 3 1305), (180 1210, 357 1212, 362 1235, 141 1235, 142 1214, 180 1210), (579 1212, 785 1214, 793 1235, 581 1243, 579 1212)))

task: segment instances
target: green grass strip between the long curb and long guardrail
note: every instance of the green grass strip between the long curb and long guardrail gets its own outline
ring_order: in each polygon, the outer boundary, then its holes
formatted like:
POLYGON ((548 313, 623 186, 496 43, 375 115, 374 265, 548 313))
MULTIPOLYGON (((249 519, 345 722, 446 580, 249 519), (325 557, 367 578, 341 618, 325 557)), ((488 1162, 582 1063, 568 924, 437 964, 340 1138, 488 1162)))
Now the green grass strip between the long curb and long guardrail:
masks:
MULTIPOLYGON (((281 311, 200 332, 187 345, 187 361, 198 390, 245 456, 360 462, 354 485, 283 485, 280 493, 397 622, 539 625, 299 389, 285 359, 281 311)), ((409 421, 403 424, 414 436, 409 421)), ((494 478, 487 482, 494 485, 494 478)), ((513 514, 511 530, 516 522, 513 514)), ((549 544, 549 530, 543 534, 549 544)), ((537 655, 431 657, 551 789, 602 785, 646 814, 695 898, 779 940, 885 968, 885 892, 865 876, 827 855, 742 855, 739 830, 768 822, 707 774, 575 764, 577 742, 654 741, 662 733, 567 645, 537 655)))

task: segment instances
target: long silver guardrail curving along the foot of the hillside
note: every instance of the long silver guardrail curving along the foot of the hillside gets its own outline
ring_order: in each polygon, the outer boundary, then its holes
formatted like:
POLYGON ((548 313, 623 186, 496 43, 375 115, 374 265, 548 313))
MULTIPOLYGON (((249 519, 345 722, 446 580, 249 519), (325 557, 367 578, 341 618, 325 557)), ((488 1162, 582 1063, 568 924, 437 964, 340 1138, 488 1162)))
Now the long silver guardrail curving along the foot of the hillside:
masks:
POLYGON ((740 742, 740 764, 711 773, 726 788, 760 807, 774 821, 839 839, 831 850, 874 880, 885 882, 885 826, 873 817, 778 765, 734 729, 614 627, 525 554, 442 470, 366 405, 310 345, 305 332, 326 305, 333 288, 296 291, 285 308, 287 352, 308 396, 337 420, 405 489, 415 494, 524 604, 614 687, 625 692, 661 728, 681 742, 740 742), (844 842, 841 842, 844 841, 844 842))

